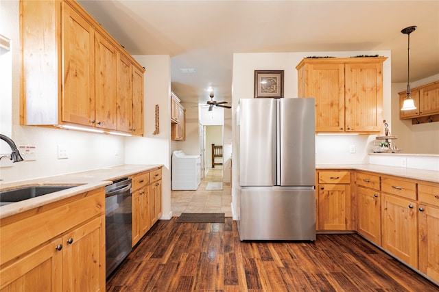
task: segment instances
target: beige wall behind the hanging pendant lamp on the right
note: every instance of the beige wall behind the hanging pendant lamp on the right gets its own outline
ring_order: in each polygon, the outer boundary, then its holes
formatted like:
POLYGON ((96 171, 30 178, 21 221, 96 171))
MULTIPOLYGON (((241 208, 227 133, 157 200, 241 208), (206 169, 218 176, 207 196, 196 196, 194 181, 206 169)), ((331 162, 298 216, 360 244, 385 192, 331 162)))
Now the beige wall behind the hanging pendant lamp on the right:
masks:
MULTIPOLYGON (((439 80, 439 74, 410 82, 410 88, 439 80)), ((392 135, 398 136, 394 143, 404 153, 439 154, 439 122, 412 124, 399 120, 399 92, 407 90, 407 83, 392 83, 392 135)))

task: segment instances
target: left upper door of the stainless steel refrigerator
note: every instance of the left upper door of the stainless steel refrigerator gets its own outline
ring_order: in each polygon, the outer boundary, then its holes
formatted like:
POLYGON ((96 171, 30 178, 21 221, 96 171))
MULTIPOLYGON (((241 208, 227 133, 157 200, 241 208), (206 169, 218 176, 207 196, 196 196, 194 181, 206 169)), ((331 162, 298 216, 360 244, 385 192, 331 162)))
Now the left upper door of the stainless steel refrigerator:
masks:
POLYGON ((241 186, 276 185, 276 100, 239 100, 241 186))

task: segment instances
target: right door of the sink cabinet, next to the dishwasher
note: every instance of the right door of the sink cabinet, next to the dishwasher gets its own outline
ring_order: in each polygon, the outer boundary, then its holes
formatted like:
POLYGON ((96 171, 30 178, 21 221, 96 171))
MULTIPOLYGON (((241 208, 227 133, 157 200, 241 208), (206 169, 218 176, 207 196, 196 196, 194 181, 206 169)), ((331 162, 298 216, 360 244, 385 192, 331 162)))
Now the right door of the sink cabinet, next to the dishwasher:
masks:
POLYGON ((105 291, 105 215, 62 237, 64 291, 105 291))

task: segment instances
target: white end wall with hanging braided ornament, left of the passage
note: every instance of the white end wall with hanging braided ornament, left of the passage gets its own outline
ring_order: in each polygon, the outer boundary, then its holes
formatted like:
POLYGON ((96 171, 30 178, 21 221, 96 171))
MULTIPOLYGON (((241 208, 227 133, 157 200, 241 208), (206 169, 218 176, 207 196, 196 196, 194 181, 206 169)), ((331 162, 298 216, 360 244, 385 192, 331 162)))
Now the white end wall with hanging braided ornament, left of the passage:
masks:
POLYGON ((163 164, 163 219, 171 213, 171 59, 169 55, 134 55, 146 68, 144 75, 144 137, 130 137, 125 144, 126 164, 163 164), (160 131, 155 131, 155 107, 160 131))

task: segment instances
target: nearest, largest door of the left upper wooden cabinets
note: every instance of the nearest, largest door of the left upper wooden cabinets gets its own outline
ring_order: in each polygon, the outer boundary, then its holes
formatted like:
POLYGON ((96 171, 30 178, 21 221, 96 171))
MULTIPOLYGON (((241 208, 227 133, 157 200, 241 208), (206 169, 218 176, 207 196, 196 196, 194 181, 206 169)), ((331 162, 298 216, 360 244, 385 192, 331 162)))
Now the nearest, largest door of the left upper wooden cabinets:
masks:
POLYGON ((94 34, 91 25, 62 2, 62 121, 95 120, 94 34))

